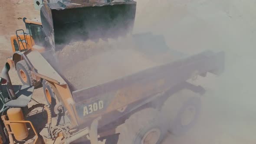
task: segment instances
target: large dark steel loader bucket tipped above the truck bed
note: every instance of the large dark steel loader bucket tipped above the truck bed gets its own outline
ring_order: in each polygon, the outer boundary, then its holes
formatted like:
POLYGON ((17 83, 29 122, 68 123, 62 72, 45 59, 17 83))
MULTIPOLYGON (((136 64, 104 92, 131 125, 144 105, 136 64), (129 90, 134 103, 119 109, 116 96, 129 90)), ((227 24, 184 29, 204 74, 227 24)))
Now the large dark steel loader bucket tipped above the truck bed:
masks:
MULTIPOLYGON (((78 0, 76 0, 78 1, 78 0)), ((136 12, 133 0, 108 3, 47 3, 40 10, 50 45, 86 39, 117 38, 130 33, 136 12)), ((117 1, 117 0, 115 0, 117 1)))

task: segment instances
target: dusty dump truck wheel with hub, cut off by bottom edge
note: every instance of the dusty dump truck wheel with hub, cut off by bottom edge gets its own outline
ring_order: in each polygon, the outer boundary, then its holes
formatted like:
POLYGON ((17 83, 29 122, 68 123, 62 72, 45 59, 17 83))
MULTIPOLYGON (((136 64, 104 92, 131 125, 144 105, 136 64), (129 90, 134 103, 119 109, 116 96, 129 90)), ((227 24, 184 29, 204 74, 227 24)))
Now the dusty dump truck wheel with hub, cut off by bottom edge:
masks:
POLYGON ((154 108, 146 108, 131 115, 125 124, 116 128, 116 133, 120 133, 117 144, 148 144, 146 141, 160 144, 166 132, 157 115, 158 111, 154 108))

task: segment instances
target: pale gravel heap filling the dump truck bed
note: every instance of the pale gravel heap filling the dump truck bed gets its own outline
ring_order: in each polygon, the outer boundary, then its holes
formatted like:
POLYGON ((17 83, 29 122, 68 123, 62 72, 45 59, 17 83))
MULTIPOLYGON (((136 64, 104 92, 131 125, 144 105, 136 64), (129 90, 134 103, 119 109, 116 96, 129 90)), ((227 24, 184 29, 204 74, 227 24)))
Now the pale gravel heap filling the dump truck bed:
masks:
POLYGON ((89 88, 159 65, 132 41, 74 42, 56 52, 59 72, 72 90, 89 88))

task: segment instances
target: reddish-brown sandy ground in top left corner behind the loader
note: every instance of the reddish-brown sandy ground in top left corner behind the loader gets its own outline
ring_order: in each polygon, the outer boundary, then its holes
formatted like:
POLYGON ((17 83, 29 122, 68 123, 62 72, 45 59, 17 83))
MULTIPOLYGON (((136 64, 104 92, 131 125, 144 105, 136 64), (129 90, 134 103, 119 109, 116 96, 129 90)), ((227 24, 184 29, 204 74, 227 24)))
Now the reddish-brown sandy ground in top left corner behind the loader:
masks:
POLYGON ((7 57, 12 56, 10 35, 16 29, 25 29, 22 18, 33 19, 39 16, 34 10, 33 0, 1 0, 0 4, 0 67, 7 57))

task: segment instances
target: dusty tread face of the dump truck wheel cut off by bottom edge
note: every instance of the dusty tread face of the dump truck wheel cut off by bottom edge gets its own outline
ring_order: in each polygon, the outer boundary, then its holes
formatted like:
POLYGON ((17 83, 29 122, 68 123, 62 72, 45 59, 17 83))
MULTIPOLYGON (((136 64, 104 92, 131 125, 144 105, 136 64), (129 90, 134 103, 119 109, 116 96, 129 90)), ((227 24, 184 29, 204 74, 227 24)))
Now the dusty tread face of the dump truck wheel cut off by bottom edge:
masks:
POLYGON ((125 124, 116 128, 115 132, 120 133, 117 144, 135 144, 140 132, 147 130, 151 126, 151 122, 156 121, 157 115, 158 111, 154 108, 145 108, 131 115, 125 124))

